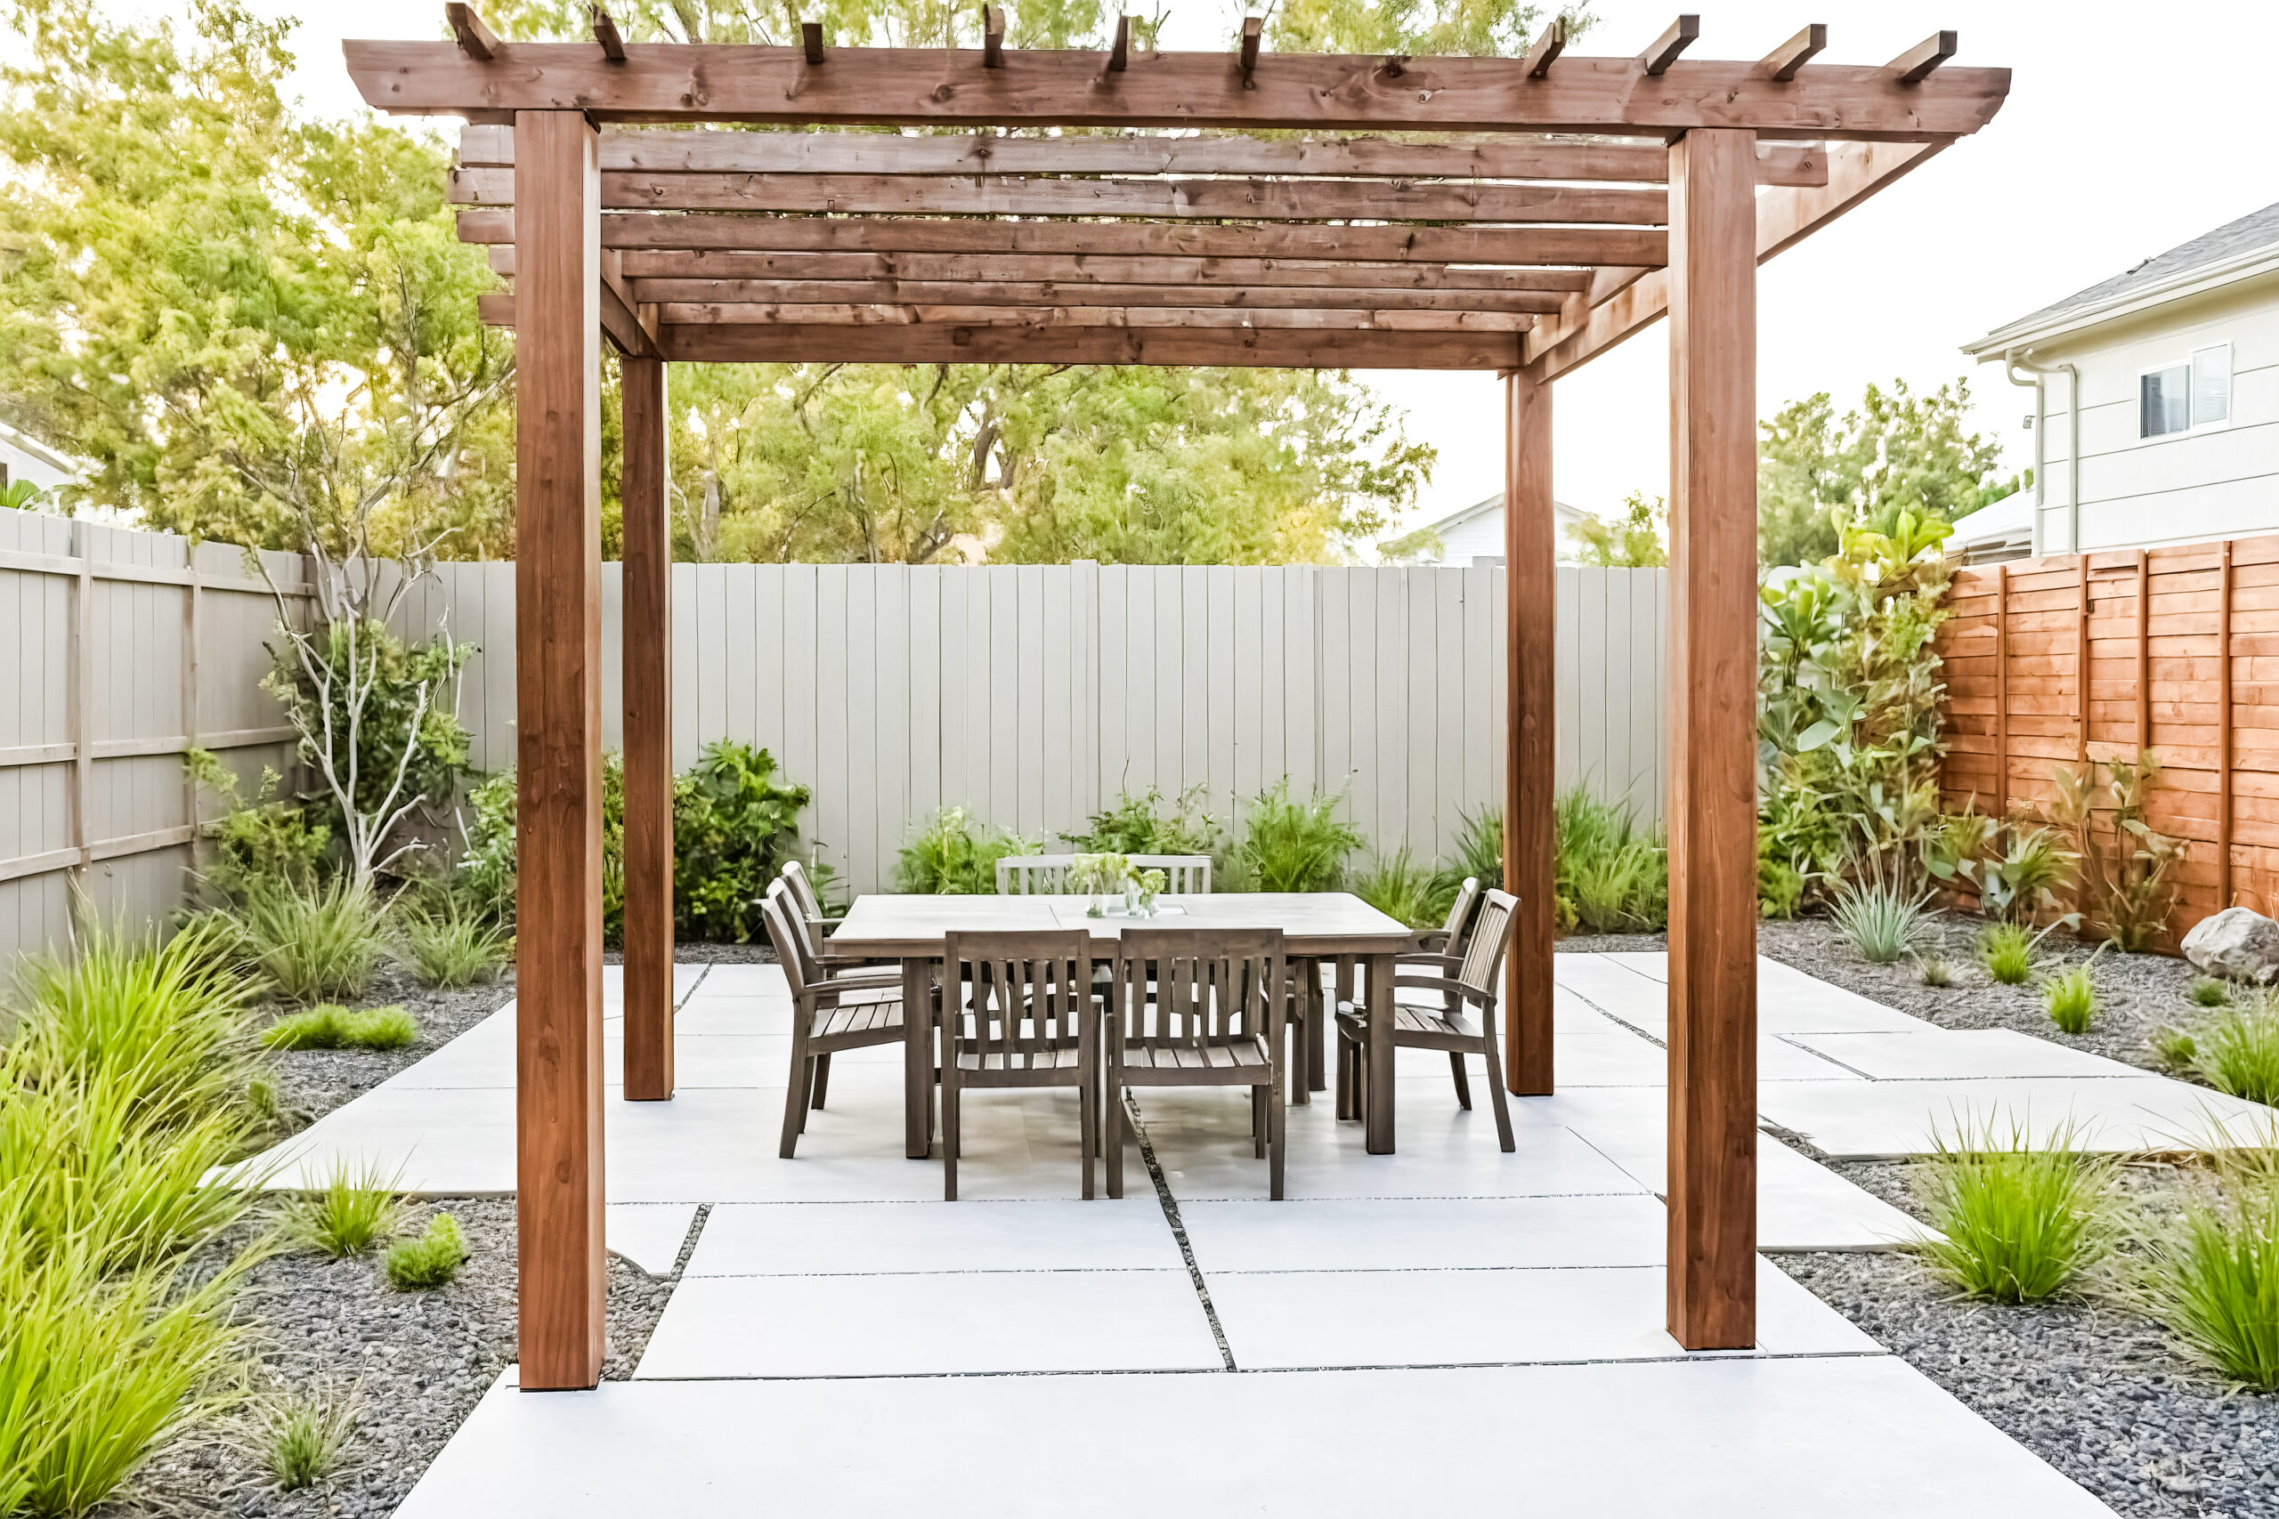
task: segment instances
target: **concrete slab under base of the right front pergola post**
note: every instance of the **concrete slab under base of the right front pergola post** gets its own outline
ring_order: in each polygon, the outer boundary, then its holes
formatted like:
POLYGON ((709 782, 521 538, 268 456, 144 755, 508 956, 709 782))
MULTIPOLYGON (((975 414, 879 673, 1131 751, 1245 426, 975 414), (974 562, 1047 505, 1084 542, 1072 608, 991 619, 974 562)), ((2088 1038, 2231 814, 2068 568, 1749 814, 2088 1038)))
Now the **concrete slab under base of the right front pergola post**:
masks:
MULTIPOLYGON (((1534 1271, 1203 1271, 1244 1371, 1490 1366, 1684 1355, 1655 1266, 1534 1271)), ((1880 1355, 1869 1335, 1757 1259, 1757 1348, 1880 1355)))

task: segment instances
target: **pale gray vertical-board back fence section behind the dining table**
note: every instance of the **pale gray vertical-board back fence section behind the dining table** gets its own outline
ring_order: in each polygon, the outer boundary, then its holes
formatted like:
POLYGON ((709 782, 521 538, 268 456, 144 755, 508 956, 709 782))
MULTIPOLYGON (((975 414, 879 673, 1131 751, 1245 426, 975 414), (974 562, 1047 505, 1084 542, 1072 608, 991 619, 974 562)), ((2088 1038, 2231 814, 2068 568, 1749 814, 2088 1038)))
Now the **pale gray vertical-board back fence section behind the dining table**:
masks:
MULTIPOLYGON (((460 715, 515 761, 513 565, 442 565, 401 610, 481 644, 460 715)), ((1661 815, 1666 572, 1559 569, 1559 774, 1661 815)), ((602 576, 604 742, 620 578, 602 576)), ((1379 849, 1445 854, 1504 783, 1502 567, 675 565, 672 763, 766 745, 807 834, 891 888, 941 806, 1053 838, 1119 793, 1203 786, 1217 818, 1288 774, 1379 849)))

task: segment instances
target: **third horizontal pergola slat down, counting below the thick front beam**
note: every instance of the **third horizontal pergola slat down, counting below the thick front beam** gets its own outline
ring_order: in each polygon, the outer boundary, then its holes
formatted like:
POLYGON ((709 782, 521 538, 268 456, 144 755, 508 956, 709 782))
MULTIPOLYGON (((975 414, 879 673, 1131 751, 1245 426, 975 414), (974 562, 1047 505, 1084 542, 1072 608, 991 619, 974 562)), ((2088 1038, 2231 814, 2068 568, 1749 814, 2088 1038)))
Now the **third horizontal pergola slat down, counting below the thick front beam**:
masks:
MULTIPOLYGON (((513 212, 460 212, 460 241, 513 241, 513 212)), ((752 253, 1117 253, 1169 257, 1315 257, 1390 264, 1659 266, 1657 228, 1306 228, 1146 221, 921 221, 912 216, 602 216, 604 248, 752 253)))

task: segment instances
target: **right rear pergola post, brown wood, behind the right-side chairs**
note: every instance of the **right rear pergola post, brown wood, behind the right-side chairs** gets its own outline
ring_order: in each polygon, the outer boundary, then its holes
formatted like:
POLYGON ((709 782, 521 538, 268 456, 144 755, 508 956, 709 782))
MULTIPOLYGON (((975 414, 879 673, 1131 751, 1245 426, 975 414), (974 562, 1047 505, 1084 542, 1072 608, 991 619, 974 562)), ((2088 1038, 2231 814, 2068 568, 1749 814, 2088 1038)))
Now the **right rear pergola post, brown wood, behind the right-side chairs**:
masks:
MULTIPOLYGON (((1504 993, 1504 1084, 1552 1091, 1552 385, 1504 380, 1504 890, 1520 900, 1504 993)), ((1490 1073, 1493 1075, 1493 1073, 1490 1073)))

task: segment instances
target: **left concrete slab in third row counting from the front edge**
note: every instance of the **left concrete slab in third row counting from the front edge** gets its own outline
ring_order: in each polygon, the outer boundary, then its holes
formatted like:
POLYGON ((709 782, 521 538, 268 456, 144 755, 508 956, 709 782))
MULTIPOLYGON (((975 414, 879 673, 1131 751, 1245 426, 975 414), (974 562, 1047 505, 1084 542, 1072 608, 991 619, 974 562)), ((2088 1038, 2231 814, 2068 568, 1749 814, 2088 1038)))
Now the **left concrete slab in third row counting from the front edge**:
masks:
POLYGON ((729 1202, 686 1275, 1185 1268, 1149 1189, 1092 1202, 729 1202))

